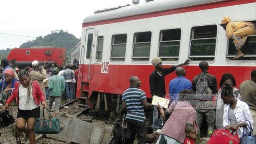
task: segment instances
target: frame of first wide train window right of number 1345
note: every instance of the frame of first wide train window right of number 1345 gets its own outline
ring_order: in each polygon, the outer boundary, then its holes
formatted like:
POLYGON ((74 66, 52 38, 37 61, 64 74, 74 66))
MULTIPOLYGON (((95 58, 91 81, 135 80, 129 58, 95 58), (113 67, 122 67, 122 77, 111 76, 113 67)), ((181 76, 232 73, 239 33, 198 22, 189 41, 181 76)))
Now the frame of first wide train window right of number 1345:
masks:
POLYGON ((111 37, 111 46, 110 46, 110 60, 111 61, 114 61, 114 62, 117 62, 117 61, 125 61, 125 57, 126 57, 126 48, 127 48, 127 33, 118 33, 118 34, 113 34, 112 37, 111 37), (115 42, 115 38, 114 36, 115 35, 121 35, 121 34, 125 34, 126 35, 126 43, 114 43, 115 42), (124 52, 124 57, 112 57, 112 49, 113 49, 113 46, 120 46, 120 45, 125 45, 125 52, 124 52))

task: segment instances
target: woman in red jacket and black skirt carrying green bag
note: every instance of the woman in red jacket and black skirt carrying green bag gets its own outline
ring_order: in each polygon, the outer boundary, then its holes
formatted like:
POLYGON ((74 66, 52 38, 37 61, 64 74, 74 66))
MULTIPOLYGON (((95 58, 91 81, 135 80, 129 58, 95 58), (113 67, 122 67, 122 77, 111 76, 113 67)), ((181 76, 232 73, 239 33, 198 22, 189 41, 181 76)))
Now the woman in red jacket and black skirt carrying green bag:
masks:
POLYGON ((40 116, 40 102, 46 107, 45 95, 37 81, 31 81, 29 72, 22 69, 18 73, 20 82, 14 83, 15 90, 7 99, 5 109, 16 99, 18 105, 17 128, 29 136, 30 144, 35 144, 34 125, 40 116), (27 127, 26 127, 27 123, 27 127))

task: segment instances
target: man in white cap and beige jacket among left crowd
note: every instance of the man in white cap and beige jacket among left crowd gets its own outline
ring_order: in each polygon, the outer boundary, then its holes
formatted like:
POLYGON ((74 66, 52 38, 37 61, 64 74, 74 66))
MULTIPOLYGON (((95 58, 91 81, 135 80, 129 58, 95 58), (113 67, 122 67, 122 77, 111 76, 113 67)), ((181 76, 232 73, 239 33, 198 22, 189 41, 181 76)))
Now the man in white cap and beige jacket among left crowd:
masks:
POLYGON ((33 71, 31 71, 30 74, 30 79, 31 81, 37 80, 44 95, 45 95, 45 85, 44 85, 44 79, 46 79, 46 70, 44 69, 44 66, 39 67, 39 62, 38 61, 33 61, 32 62, 32 67, 33 71))

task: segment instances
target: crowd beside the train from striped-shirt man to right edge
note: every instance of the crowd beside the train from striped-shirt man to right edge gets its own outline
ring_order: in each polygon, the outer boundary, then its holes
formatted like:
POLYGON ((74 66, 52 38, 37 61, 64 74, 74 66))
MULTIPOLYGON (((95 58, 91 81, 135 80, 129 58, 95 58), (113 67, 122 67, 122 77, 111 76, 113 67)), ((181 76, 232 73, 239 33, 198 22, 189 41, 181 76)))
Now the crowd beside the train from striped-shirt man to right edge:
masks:
MULTIPOLYGON (((230 73, 223 74, 217 88, 217 79, 208 72, 209 64, 205 61, 199 63, 201 73, 193 78, 186 79, 186 71, 183 65, 189 64, 189 59, 184 63, 163 68, 159 57, 152 59, 155 70, 149 76, 150 93, 153 97, 170 99, 168 109, 160 105, 147 103, 146 94, 139 89, 141 81, 138 77, 130 78, 130 87, 123 93, 123 108, 126 110, 126 120, 131 136, 126 137, 126 143, 131 144, 137 134, 138 144, 146 141, 146 119, 144 109, 153 107, 153 130, 159 133, 157 144, 193 144, 198 138, 203 120, 207 124, 207 137, 210 137, 214 129, 227 129, 242 136, 243 128, 253 126, 255 135, 255 93, 256 72, 251 72, 251 79, 241 83, 239 89, 235 88, 235 78, 230 73), (165 90, 165 76, 176 72, 177 78, 170 81, 169 94, 165 90), (197 109, 191 103, 197 99, 181 100, 179 94, 208 94, 221 96, 217 99, 218 108, 197 109), (181 109, 179 105, 186 107, 181 109)), ((214 104, 215 99, 208 99, 203 104, 214 104)), ((235 134, 234 133, 234 134, 235 134)))

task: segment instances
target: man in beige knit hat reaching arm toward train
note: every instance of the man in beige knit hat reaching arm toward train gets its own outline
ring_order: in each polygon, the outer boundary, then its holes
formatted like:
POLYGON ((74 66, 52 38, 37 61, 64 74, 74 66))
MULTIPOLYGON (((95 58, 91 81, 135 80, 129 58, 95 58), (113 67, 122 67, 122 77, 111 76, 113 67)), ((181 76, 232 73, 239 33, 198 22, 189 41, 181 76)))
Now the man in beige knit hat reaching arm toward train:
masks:
MULTIPOLYGON (((159 96, 159 97, 165 97, 165 75, 170 74, 171 72, 175 71, 175 69, 179 66, 189 64, 189 59, 186 59, 186 61, 182 64, 178 64, 175 66, 172 66, 170 68, 164 69, 162 65, 162 60, 159 57, 154 57, 152 59, 152 64, 155 67, 155 71, 153 71, 149 76, 149 84, 150 84, 150 93, 152 96, 159 96)), ((154 133, 160 133, 161 128, 163 125, 163 119, 162 124, 159 125, 158 119, 158 110, 157 106, 154 106, 154 112, 153 112, 153 130, 154 133)))

